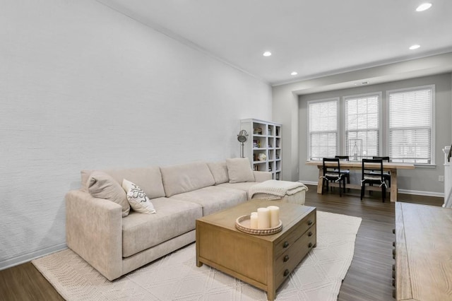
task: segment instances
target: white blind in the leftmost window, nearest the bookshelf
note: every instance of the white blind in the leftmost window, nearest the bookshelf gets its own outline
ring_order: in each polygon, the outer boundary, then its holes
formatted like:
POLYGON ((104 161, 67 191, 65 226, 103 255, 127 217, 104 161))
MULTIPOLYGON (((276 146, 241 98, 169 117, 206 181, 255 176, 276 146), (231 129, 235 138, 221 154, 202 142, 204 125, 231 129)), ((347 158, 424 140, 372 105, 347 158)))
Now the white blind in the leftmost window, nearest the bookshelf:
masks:
POLYGON ((309 102, 309 160, 338 153, 338 99, 309 102))

